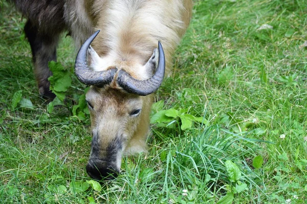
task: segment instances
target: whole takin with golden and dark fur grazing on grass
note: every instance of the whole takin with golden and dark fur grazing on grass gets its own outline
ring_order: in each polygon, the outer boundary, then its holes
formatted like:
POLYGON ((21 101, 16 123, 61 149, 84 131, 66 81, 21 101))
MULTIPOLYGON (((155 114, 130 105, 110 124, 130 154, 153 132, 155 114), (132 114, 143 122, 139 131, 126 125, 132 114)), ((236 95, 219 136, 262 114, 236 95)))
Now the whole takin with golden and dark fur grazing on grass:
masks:
POLYGON ((115 178, 124 155, 146 152, 153 93, 169 75, 192 0, 9 1, 28 19, 25 34, 41 95, 55 97, 48 62, 56 60, 60 34, 69 32, 80 47, 75 73, 91 86, 86 101, 93 139, 86 172, 96 180, 115 178))

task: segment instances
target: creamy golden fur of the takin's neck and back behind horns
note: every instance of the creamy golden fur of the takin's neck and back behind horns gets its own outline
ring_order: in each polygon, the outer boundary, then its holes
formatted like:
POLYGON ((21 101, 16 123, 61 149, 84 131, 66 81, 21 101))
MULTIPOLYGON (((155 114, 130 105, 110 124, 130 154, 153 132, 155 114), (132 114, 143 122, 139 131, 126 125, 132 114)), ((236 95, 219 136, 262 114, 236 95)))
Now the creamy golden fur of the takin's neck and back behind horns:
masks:
POLYGON ((130 65, 131 71, 128 72, 133 73, 138 70, 136 64, 144 65, 147 62, 158 41, 165 50, 166 72, 170 70, 173 52, 190 22, 191 0, 80 2, 76 4, 91 6, 85 9, 80 6, 66 7, 65 17, 70 22, 68 24, 77 47, 87 38, 83 33, 101 30, 93 43, 93 48, 103 59, 103 65, 98 66, 100 70, 114 66, 111 65, 114 62, 122 62, 116 66, 129 69, 130 65), (89 31, 86 27, 93 30, 89 31))

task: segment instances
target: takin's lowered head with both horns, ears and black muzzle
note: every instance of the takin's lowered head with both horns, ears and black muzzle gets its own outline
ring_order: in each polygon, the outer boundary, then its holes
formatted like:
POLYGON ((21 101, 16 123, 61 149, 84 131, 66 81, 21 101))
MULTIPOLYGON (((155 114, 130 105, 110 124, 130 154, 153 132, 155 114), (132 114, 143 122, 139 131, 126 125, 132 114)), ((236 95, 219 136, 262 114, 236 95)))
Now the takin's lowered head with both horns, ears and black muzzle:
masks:
POLYGON ((165 58, 159 43, 144 65, 152 76, 139 80, 117 67, 93 71, 87 65, 98 60, 90 46, 99 31, 81 46, 75 63, 75 73, 81 83, 91 86, 86 93, 92 123, 92 149, 86 172, 96 180, 113 179, 120 172, 123 155, 145 151, 149 130, 152 94, 161 85, 165 58), (157 65, 158 64, 158 65, 157 65))

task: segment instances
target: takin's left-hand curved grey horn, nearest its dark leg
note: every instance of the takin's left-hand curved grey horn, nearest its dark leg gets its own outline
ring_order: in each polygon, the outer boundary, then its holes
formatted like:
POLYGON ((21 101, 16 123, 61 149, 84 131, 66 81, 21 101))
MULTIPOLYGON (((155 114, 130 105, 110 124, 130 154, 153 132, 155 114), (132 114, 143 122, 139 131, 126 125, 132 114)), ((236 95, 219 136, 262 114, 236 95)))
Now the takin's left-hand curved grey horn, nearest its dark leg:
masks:
MULTIPOLYGON (((93 71, 87 66, 86 60, 86 52, 89 49, 91 43, 98 35, 100 30, 96 31, 91 37, 89 37, 84 44, 81 46, 75 62, 75 73, 78 77, 79 81, 85 85, 95 85, 98 87, 103 87, 106 84, 111 83, 117 69, 109 69, 106 71, 93 71)), ((95 52, 93 48, 90 47, 89 52, 94 52, 97 56, 98 54, 95 52)), ((93 56, 95 54, 93 53, 93 56)))

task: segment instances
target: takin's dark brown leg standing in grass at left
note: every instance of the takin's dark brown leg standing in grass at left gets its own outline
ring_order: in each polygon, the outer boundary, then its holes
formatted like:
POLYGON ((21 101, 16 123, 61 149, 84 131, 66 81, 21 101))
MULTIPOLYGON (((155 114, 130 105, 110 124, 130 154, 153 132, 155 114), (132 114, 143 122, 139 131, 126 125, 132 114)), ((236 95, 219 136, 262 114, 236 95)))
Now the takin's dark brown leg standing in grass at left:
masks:
POLYGON ((48 62, 56 61, 56 46, 60 33, 52 33, 51 35, 41 33, 30 20, 25 25, 25 33, 32 50, 34 75, 39 94, 53 99, 55 94, 49 89, 48 77, 52 75, 52 72, 49 70, 48 62))

